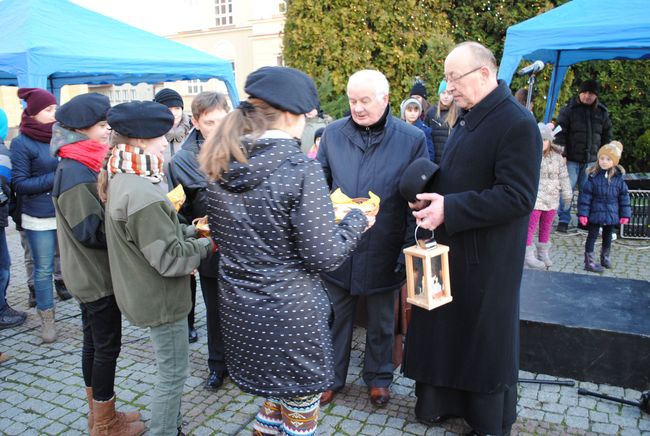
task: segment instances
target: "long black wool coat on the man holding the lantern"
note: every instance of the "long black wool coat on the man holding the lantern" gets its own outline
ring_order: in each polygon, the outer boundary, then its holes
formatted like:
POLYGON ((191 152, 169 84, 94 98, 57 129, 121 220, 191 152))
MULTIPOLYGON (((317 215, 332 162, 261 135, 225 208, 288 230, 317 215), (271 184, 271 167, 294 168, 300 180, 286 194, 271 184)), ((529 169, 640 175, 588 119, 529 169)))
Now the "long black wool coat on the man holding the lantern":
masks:
POLYGON ((413 307, 407 377, 478 393, 516 388, 519 286, 541 158, 535 120, 504 82, 459 117, 433 183, 445 197, 435 237, 450 247, 453 301, 413 307))

